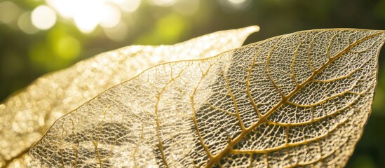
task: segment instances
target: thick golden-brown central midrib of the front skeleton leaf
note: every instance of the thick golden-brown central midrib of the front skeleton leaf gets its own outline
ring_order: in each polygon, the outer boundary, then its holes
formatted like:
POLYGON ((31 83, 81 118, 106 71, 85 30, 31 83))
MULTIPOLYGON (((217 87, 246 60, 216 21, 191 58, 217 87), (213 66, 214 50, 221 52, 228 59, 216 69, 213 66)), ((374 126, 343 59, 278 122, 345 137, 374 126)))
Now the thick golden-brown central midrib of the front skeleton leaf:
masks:
POLYGON ((323 71, 323 69, 325 69, 328 65, 330 65, 332 62, 335 61, 335 59, 341 57, 345 52, 349 51, 350 48, 352 48, 353 46, 357 45, 358 43, 361 43, 362 41, 365 41, 367 38, 372 38, 373 36, 377 36, 379 34, 383 34, 384 32, 381 31, 377 34, 372 34, 370 36, 366 36, 364 38, 361 38, 360 40, 352 43, 351 45, 348 45, 346 48, 344 48, 344 50, 342 50, 341 52, 337 53, 337 55, 335 57, 332 57, 330 58, 325 64, 323 64, 323 66, 321 66, 319 69, 317 69, 316 71, 313 72, 313 74, 311 76, 309 76, 308 79, 306 79, 303 83, 297 85, 297 87, 295 88, 295 90, 293 90, 292 92, 290 92, 288 94, 288 96, 283 96, 281 101, 278 102, 278 104, 276 104, 275 106, 273 106, 273 108, 268 111, 267 113, 265 113, 262 118, 259 118, 259 120, 257 121, 257 123, 255 123, 254 125, 251 125, 250 127, 246 128, 245 131, 241 132, 241 134, 238 135, 238 137, 236 137, 235 139, 233 139, 232 141, 229 142, 229 145, 224 148, 223 151, 217 153, 217 155, 215 155, 213 158, 210 158, 210 160, 208 160, 207 162, 207 165, 205 165, 205 167, 212 167, 213 165, 215 165, 215 163, 217 163, 224 155, 227 155, 231 150, 233 150, 233 147, 238 144, 239 141, 241 141, 241 139, 243 139, 246 135, 250 134, 250 132, 252 132, 252 130, 254 130, 256 127, 258 127, 259 125, 261 125, 262 123, 266 123, 266 118, 268 118, 270 116, 271 113, 273 113, 274 111, 276 111, 276 109, 278 109, 279 107, 281 107, 283 104, 285 104, 288 99, 290 99, 294 94, 296 94, 299 90, 302 89, 302 87, 304 87, 304 85, 308 84, 309 82, 311 82, 311 80, 313 80, 314 77, 316 77, 318 75, 318 73, 320 73, 320 71, 323 71))

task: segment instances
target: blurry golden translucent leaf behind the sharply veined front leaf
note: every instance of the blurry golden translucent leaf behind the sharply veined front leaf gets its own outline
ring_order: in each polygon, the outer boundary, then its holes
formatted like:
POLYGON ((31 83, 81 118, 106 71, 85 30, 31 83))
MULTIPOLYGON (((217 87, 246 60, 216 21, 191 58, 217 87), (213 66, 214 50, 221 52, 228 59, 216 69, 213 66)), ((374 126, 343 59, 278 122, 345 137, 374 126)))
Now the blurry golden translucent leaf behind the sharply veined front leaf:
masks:
POLYGON ((218 31, 175 45, 130 46, 42 76, 0 104, 0 167, 25 167, 25 153, 55 120, 109 87, 156 64, 210 57, 239 47, 258 30, 255 26, 218 31))

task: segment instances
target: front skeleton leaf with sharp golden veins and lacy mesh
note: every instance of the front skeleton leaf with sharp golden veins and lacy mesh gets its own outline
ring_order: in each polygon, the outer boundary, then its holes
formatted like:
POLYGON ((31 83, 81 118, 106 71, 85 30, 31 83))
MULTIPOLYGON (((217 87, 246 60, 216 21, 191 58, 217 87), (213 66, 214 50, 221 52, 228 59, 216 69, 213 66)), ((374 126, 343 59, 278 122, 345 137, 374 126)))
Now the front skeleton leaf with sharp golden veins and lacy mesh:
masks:
POLYGON ((343 167, 385 31, 299 31, 154 66, 60 118, 36 167, 343 167))

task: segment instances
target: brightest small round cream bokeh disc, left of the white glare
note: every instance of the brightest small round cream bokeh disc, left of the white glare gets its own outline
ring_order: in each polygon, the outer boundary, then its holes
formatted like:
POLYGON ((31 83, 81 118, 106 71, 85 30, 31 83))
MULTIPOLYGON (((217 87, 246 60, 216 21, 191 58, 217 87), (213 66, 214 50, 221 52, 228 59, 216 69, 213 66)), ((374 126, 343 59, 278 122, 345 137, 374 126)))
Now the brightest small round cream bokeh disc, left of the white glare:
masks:
POLYGON ((38 29, 50 29, 55 25, 56 13, 52 8, 41 5, 32 11, 32 24, 38 29))

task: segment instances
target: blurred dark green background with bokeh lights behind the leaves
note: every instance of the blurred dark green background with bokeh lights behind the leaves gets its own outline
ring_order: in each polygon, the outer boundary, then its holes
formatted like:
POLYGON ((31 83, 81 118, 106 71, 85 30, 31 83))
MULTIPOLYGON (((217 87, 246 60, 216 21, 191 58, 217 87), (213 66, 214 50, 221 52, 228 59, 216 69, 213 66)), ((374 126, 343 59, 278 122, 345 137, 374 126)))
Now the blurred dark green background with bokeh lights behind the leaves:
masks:
MULTIPOLYGON (((0 1, 0 102, 44 73, 126 45, 259 25, 252 43, 305 29, 385 29, 385 0, 0 1)), ((385 167, 385 48, 370 120, 347 167, 385 167)))

